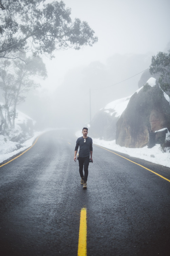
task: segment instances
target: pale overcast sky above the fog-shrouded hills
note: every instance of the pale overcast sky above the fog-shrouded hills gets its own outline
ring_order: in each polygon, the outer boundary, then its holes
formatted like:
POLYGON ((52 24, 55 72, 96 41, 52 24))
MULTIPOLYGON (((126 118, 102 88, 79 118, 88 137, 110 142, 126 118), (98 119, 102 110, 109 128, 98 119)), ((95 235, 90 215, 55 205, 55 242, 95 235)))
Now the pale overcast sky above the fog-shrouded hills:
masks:
MULTIPOLYGON (((46 2, 51 2, 50 0, 46 2)), ((69 49, 45 60, 48 84, 61 85, 68 70, 114 54, 156 54, 170 42, 169 0, 64 0, 71 18, 88 22, 98 36, 93 47, 69 49)), ((148 68, 148 67, 146 67, 148 68)), ((139 72, 142 70, 139 70, 139 72)), ((121 81, 121 77, 120 77, 121 81)), ((42 83, 42 84, 46 84, 42 83)))

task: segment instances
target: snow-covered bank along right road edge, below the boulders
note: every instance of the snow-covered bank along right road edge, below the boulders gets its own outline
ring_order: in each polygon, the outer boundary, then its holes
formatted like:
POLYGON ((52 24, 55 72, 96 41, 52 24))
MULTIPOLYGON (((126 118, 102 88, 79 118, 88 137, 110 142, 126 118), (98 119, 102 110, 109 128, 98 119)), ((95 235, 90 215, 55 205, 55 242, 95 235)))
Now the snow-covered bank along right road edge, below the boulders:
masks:
MULTIPOLYGON (((75 133, 76 137, 81 137, 82 132, 78 131, 75 133)), ((89 137, 90 137, 90 132, 89 132, 89 137)), ((116 141, 104 141, 100 139, 93 139, 93 143, 97 144, 99 146, 106 147, 111 150, 118 151, 120 153, 127 154, 132 157, 137 157, 146 161, 150 161, 153 163, 157 163, 162 166, 167 166, 170 168, 170 153, 166 152, 163 153, 160 150, 160 145, 156 145, 152 148, 143 147, 143 148, 127 148, 127 147, 121 147, 116 144, 116 141)), ((95 152, 94 152, 95 154, 95 152)))

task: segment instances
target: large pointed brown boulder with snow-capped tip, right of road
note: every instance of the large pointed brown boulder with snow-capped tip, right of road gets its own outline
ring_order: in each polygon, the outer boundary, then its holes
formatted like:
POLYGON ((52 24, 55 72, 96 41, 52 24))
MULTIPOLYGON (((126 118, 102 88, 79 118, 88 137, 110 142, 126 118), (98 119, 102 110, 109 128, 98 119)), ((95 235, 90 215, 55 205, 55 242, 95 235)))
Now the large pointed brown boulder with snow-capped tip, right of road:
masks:
MULTIPOLYGON (((116 125, 116 143, 130 148, 144 147, 149 142, 149 134, 163 128, 170 131, 169 117, 169 99, 156 85, 156 80, 151 78, 132 95, 120 116, 116 125)), ((158 142, 165 134, 156 132, 154 136, 158 142)))

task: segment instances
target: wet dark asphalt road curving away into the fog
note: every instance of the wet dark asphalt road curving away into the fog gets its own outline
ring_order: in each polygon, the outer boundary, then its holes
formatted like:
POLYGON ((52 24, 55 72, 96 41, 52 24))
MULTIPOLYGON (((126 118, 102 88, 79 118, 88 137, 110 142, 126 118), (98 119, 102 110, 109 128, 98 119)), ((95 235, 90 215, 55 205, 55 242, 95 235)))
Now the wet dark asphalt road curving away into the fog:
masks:
POLYGON ((93 145, 83 190, 75 141, 44 133, 0 167, 1 255, 78 255, 86 208, 87 256, 169 256, 170 168, 93 145))

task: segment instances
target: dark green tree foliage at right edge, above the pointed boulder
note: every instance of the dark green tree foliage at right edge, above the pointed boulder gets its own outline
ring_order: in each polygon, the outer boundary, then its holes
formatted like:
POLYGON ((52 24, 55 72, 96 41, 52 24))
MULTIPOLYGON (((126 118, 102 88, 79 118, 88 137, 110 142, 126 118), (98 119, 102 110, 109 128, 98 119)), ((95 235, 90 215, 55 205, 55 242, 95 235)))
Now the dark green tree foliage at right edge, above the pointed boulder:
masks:
POLYGON ((170 96, 170 50, 168 53, 159 52, 152 56, 150 73, 159 75, 157 82, 160 88, 170 96))

